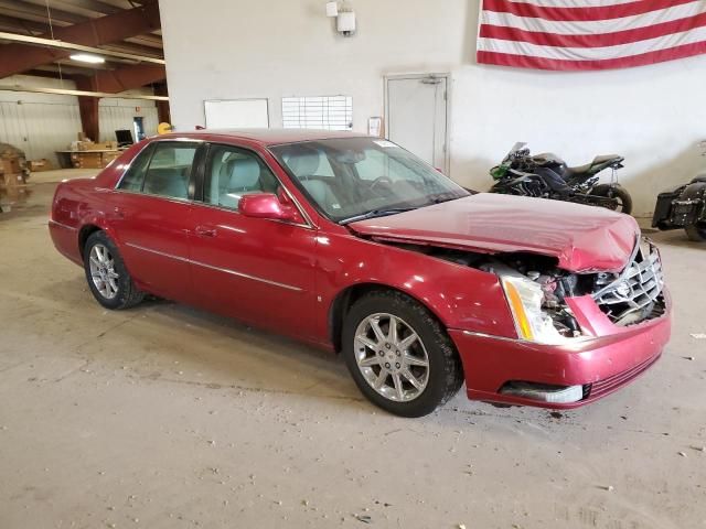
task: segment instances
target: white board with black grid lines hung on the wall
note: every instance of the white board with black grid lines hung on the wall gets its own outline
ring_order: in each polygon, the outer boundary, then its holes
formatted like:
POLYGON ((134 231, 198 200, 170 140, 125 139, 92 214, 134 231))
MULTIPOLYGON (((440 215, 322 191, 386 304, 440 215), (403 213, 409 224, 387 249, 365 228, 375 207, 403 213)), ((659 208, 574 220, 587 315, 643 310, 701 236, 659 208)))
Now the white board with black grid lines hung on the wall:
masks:
POLYGON ((285 129, 353 130, 353 96, 287 96, 281 112, 285 129))

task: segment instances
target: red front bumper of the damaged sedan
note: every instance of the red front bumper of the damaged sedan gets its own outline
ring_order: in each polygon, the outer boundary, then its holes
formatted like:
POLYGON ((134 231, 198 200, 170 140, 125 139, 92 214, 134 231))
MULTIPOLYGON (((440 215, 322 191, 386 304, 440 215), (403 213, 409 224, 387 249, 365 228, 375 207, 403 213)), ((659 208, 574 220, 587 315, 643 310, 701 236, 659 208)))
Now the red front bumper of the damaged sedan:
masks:
POLYGON ((629 384, 651 367, 671 334, 671 300, 664 313, 630 326, 614 325, 590 296, 571 309, 592 336, 543 345, 449 330, 461 356, 469 399, 543 408, 577 408, 629 384))

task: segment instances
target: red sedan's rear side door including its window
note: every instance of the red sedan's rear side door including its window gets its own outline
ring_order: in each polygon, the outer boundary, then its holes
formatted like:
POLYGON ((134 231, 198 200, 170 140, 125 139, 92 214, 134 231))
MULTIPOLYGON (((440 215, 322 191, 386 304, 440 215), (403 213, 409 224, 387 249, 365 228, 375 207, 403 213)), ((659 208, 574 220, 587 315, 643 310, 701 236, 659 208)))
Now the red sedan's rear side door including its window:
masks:
POLYGON ((106 212, 130 274, 142 289, 171 300, 189 301, 190 199, 201 145, 151 143, 130 164, 106 212))

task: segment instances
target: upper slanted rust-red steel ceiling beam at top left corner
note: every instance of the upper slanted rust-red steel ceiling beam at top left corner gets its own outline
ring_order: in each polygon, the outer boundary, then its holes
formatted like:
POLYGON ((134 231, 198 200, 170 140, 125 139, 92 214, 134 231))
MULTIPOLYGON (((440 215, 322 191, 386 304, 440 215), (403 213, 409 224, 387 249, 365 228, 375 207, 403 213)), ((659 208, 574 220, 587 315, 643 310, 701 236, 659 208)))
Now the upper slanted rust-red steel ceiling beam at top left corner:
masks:
MULTIPOLYGON (((54 29, 54 39, 63 44, 96 47, 100 44, 119 42, 130 36, 147 33, 160 26, 159 4, 150 2, 138 8, 108 14, 98 19, 54 29)), ((50 35, 44 35, 50 36, 50 35)), ((45 47, 28 48, 23 44, 0 46, 0 78, 32 69, 42 64, 66 57, 69 50, 45 47)), ((105 53, 105 52, 104 52, 105 53)), ((110 52, 113 54, 117 52, 110 52)), ((152 60, 153 61, 153 60, 152 60)))

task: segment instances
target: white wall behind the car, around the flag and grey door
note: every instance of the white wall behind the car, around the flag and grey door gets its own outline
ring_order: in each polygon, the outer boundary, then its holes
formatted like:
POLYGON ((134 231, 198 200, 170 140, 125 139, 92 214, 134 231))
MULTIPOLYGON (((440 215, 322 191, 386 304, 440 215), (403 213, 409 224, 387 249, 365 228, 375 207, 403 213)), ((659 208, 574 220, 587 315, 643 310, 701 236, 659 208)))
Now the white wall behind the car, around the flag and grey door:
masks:
POLYGON ((384 115, 383 76, 450 72, 451 176, 485 190, 488 169, 517 140, 571 164, 627 158, 621 180, 649 215, 656 193, 703 163, 706 56, 599 73, 547 73, 474 63, 477 0, 352 0, 359 31, 345 39, 324 0, 162 0, 172 121, 204 123, 204 99, 267 97, 281 126, 282 96, 351 95, 353 122, 384 115), (185 39, 184 35, 197 35, 185 39))

